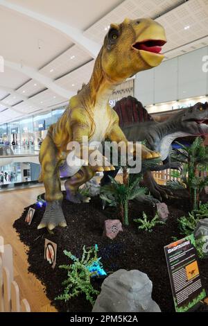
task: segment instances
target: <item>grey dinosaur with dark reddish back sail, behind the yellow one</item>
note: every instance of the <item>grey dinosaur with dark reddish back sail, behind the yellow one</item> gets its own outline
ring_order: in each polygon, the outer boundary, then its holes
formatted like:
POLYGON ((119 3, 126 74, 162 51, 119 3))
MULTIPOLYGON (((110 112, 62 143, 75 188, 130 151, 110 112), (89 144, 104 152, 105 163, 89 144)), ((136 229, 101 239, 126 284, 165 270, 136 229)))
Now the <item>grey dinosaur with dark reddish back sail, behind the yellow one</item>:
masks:
MULTIPOLYGON (((171 144, 175 139, 208 134, 208 103, 196 103, 193 107, 185 108, 160 123, 153 121, 142 104, 132 96, 118 101, 114 110, 119 114, 121 128, 129 141, 145 140, 148 148, 160 153, 163 164, 155 166, 154 171, 180 169, 180 164, 171 162, 169 157, 171 144), (130 105, 133 108, 130 108, 130 105)), ((110 182, 108 175, 114 178, 117 172, 118 170, 105 172, 101 185, 110 182)), ((167 187, 157 185, 150 171, 145 171, 142 185, 147 187, 150 194, 159 200, 171 195, 171 191, 167 187)))

